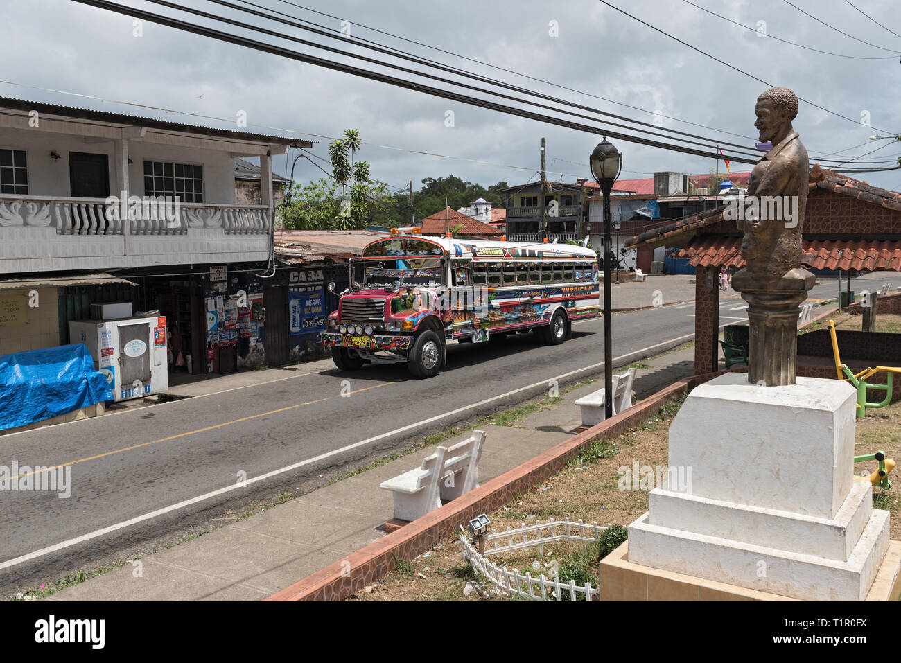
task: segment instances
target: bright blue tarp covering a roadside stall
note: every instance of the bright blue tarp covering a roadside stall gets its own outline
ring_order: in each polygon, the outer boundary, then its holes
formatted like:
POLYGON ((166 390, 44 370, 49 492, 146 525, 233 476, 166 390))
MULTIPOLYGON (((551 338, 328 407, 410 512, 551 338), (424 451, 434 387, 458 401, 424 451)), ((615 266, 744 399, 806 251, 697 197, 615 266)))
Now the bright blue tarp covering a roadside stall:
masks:
POLYGON ((84 343, 0 356, 0 430, 113 399, 84 343))

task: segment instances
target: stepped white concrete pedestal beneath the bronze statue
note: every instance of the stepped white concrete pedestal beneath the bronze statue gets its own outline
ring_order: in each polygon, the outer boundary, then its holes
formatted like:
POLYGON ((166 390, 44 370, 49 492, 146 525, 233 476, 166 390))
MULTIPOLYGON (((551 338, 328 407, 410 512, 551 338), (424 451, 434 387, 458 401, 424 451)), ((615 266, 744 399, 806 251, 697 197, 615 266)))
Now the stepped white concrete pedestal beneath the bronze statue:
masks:
POLYGON ((669 428, 669 475, 691 480, 651 491, 629 527, 629 561, 794 598, 863 600, 888 549, 888 512, 853 479, 856 395, 838 380, 754 386, 740 373, 698 386, 669 428))

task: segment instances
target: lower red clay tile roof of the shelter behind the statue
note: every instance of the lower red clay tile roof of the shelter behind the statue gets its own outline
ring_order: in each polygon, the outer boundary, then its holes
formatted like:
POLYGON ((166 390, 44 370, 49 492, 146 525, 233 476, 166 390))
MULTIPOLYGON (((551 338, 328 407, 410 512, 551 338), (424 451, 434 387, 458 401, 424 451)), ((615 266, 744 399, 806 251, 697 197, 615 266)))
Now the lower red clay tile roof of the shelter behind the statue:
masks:
MULTIPOLYGON (((901 271, 901 241, 802 240, 801 264, 810 269, 901 271)), ((694 267, 744 267, 739 237, 696 237, 678 252, 694 267)))

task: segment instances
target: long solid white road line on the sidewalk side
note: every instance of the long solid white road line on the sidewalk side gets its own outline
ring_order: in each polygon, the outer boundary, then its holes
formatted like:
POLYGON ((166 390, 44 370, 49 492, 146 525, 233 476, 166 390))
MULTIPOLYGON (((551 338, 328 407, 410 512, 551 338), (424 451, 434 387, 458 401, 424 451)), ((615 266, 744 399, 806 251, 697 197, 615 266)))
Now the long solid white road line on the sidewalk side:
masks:
MULTIPOLYGON (((634 354, 638 354, 640 352, 644 352, 647 350, 653 350, 654 348, 658 348, 661 345, 665 345, 667 343, 671 343, 674 341, 684 341, 684 340, 687 340, 690 338, 694 338, 694 336, 695 336, 694 333, 690 333, 690 334, 686 334, 684 336, 678 336, 677 338, 674 338, 674 339, 669 339, 667 341, 660 341, 660 343, 656 343, 654 345, 648 346, 647 348, 642 348, 641 350, 633 350, 632 352, 629 352, 628 354, 624 354, 619 357, 614 357, 613 360, 614 360, 614 362, 619 361, 620 359, 625 359, 634 354)), ((560 375, 557 377, 549 377, 546 380, 541 380, 540 382, 534 382, 531 385, 527 385, 527 386, 521 386, 518 389, 514 389, 513 391, 508 391, 505 394, 499 394, 496 396, 492 396, 491 398, 486 398, 483 401, 478 401, 478 403, 464 405, 463 407, 458 407, 456 410, 451 410, 450 412, 446 412, 443 414, 436 414, 435 416, 429 417, 428 419, 423 419, 420 422, 410 423, 401 428, 396 428, 394 431, 383 432, 382 434, 376 435, 375 437, 367 438, 366 440, 360 440, 359 442, 354 442, 353 444, 349 444, 346 447, 341 447, 341 449, 328 451, 327 453, 320 454, 319 456, 315 456, 312 459, 301 460, 300 462, 294 463, 293 465, 288 465, 285 468, 274 469, 271 472, 267 472, 266 474, 260 475, 259 477, 253 477, 253 478, 247 479, 246 481, 243 482, 243 486, 241 486, 241 484, 225 486, 224 488, 219 488, 218 490, 214 490, 210 493, 206 493, 205 495, 197 495, 196 497, 191 497, 190 499, 183 500, 182 502, 177 502, 176 504, 170 504, 169 506, 165 506, 162 509, 157 509, 156 511, 151 511, 150 513, 144 513, 142 515, 131 518, 127 521, 116 522, 114 525, 109 525, 108 527, 104 527, 100 530, 95 530, 95 531, 88 532, 87 534, 82 534, 81 536, 77 536, 74 539, 64 540, 59 543, 55 543, 52 546, 48 546, 47 548, 41 548, 39 550, 34 550, 32 552, 21 555, 17 558, 8 559, 5 562, 0 563, 0 570, 18 566, 19 564, 22 564, 23 562, 27 562, 32 559, 37 559, 39 557, 43 557, 44 555, 48 555, 51 552, 57 552, 58 550, 61 550, 64 548, 69 548, 70 546, 75 546, 78 543, 84 543, 87 540, 96 539, 97 537, 104 536, 105 534, 110 534, 117 530, 122 530, 125 527, 130 527, 139 522, 149 521, 153 518, 156 518, 157 516, 165 515, 166 513, 171 513, 173 511, 177 511, 178 509, 183 509, 186 506, 190 506, 191 504, 197 504, 198 502, 203 502, 204 500, 208 500, 211 497, 216 497, 218 495, 224 495, 226 493, 230 493, 230 492, 232 492, 232 490, 236 490, 237 488, 244 488, 244 487, 250 486, 250 484, 257 483, 258 481, 265 481, 268 478, 277 477, 278 475, 284 474, 285 472, 290 472, 291 470, 294 470, 297 468, 303 468, 305 465, 310 465, 311 463, 314 463, 318 460, 327 459, 330 456, 335 456, 335 455, 343 453, 345 451, 349 451, 351 449, 356 449, 357 447, 362 447, 366 444, 370 444, 372 442, 381 440, 382 438, 386 438, 389 435, 395 435, 398 432, 409 431, 410 429, 416 428, 417 426, 422 426, 426 423, 436 422, 440 419, 444 419, 445 417, 451 416, 452 414, 466 412, 467 410, 472 409, 474 407, 478 407, 479 405, 488 404, 488 403, 491 403, 492 401, 496 401, 498 399, 505 398, 506 396, 518 394, 519 392, 525 391, 526 389, 532 389, 535 386, 545 385, 545 384, 551 382, 551 380, 559 381, 560 379, 562 379, 564 377, 569 377, 576 373, 581 373, 583 371, 591 370, 592 368, 599 368, 602 366, 604 366, 603 361, 601 361, 597 364, 592 364, 591 366, 577 368, 576 370, 571 370, 571 371, 569 371, 569 373, 564 373, 563 375, 560 375)))

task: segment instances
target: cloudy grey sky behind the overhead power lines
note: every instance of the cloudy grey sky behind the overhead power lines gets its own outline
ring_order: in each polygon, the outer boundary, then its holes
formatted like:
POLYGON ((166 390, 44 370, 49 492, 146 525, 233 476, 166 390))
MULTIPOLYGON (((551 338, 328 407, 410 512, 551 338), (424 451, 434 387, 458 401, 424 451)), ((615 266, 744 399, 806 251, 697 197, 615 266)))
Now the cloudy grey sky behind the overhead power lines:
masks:
MULTIPOLYGON (((823 156, 852 146, 860 147, 836 156, 851 159, 880 147, 883 149, 863 159, 891 159, 901 154, 901 144, 897 142, 868 140, 874 134, 901 133, 901 86, 898 85, 901 37, 872 23, 844 0, 792 2, 824 23, 874 45, 834 32, 800 13, 785 0, 692 0, 696 5, 751 26, 754 31, 705 14, 686 0, 608 1, 736 68, 774 85, 791 87, 805 99, 851 118, 841 119, 801 104, 795 127, 811 153, 811 163, 817 160, 815 155, 823 156), (869 59, 802 50, 769 37, 760 37, 755 32, 758 29, 815 49, 869 59), (860 119, 866 114, 869 114, 870 126, 861 126, 860 119)), ((116 2, 390 73, 387 68, 191 17, 148 0, 116 2)), ((332 31, 340 31, 343 20, 347 22, 345 29, 350 25, 353 37, 402 48, 543 94, 644 122, 653 122, 654 112, 658 112, 740 134, 716 132, 668 118, 662 120, 663 127, 699 133, 716 141, 731 141, 751 148, 756 141, 754 100, 765 85, 596 0, 457 0, 452 3, 435 0, 291 0, 295 5, 339 18, 314 14, 283 0, 232 2, 245 8, 261 5, 320 23, 332 31), (551 81, 587 95, 399 41, 364 26, 551 81), (589 95, 644 110, 607 103, 589 95)), ((896 0, 851 2, 901 34, 901 24, 896 19, 896 0)), ((347 41, 310 35, 208 0, 188 0, 180 5, 221 16, 240 17, 280 34, 363 52, 347 41)), ((226 120, 236 118, 243 111, 247 114, 250 131, 270 132, 267 128, 279 128, 330 137, 353 127, 359 129, 365 143, 361 158, 369 161, 372 177, 394 186, 405 186, 412 179, 414 187, 418 187, 423 177, 441 177, 449 173, 484 185, 499 180, 511 185, 525 182, 536 177, 542 136, 547 139, 549 178, 573 181, 575 177, 588 176, 587 155, 600 140, 596 134, 450 102, 152 23, 143 23, 141 36, 135 36, 133 21, 132 17, 72 0, 3 0, 0 3, 0 43, 5 58, 0 79, 226 120), (448 111, 453 112, 453 126, 446 126, 448 111), (432 152, 456 159, 403 150, 432 152)), ((387 60, 384 56, 375 57, 387 60)), ((0 95, 188 123, 223 125, 23 86, 0 84, 0 95)), ((480 95, 489 96, 485 92, 480 95)), ((327 158, 327 139, 300 137, 318 141, 313 151, 327 158)), ((624 154, 623 178, 651 177, 655 170, 705 173, 714 167, 712 159, 622 140, 614 140, 614 143, 624 154)), ((281 172, 285 170, 285 157, 278 158, 276 168, 281 172)), ((733 163, 733 170, 747 169, 750 167, 733 163)), ((304 159, 297 162, 296 179, 305 181, 321 175, 304 159)), ((878 186, 901 189, 901 170, 854 177, 878 186)))

